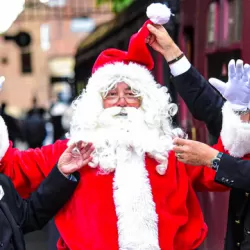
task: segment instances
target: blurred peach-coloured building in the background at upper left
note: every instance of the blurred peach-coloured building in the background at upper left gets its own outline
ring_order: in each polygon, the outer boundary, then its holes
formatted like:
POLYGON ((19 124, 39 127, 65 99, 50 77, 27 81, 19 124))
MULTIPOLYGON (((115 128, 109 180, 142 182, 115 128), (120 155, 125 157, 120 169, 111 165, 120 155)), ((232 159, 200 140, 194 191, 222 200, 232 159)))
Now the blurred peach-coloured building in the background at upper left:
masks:
POLYGON ((111 6, 98 7, 96 0, 51 1, 63 6, 47 6, 45 2, 50 1, 26 0, 24 11, 0 36, 0 75, 6 78, 0 99, 16 116, 31 108, 33 97, 37 97, 39 106, 48 108, 60 83, 74 77, 75 50, 91 32, 91 27, 83 29, 79 19, 97 26, 114 16, 111 6), (30 35, 29 46, 17 45, 19 32, 30 35))

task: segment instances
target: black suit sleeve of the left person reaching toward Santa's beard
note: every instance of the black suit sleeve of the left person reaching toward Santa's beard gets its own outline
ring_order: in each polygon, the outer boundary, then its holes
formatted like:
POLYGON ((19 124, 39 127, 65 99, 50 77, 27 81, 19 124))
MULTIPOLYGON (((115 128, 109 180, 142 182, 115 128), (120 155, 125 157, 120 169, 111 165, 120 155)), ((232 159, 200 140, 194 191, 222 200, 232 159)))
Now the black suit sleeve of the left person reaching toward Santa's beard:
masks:
POLYGON ((23 233, 41 229, 69 200, 79 181, 70 181, 55 167, 29 199, 16 194, 16 206, 20 211, 20 227, 23 233))

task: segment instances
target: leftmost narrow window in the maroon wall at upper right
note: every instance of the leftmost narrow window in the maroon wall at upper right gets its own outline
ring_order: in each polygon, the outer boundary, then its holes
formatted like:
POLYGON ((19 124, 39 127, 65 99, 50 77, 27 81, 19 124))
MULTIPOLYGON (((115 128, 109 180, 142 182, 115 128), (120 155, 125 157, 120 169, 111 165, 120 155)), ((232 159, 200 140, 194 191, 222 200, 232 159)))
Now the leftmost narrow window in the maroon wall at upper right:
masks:
POLYGON ((211 2, 208 9, 207 42, 214 43, 218 35, 218 2, 211 2))

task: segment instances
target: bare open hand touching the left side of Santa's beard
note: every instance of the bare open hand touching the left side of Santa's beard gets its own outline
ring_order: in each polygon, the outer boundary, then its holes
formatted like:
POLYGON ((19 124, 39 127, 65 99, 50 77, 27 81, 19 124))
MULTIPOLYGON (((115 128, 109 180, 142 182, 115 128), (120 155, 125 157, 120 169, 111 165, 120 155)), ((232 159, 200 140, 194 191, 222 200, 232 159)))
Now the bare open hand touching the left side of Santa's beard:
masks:
POLYGON ((81 167, 88 165, 92 160, 91 153, 94 150, 92 143, 82 141, 70 145, 61 155, 58 161, 58 169, 65 176, 74 173, 81 167))

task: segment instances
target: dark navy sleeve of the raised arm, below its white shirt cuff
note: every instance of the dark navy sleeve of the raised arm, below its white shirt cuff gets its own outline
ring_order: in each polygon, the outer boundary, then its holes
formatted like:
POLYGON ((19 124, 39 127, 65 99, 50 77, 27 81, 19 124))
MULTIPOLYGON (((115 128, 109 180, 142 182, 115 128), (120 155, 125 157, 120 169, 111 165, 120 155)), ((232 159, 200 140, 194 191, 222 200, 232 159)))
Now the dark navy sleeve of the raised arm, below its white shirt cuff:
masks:
POLYGON ((205 122, 209 133, 218 138, 223 97, 192 66, 187 72, 173 77, 172 82, 194 118, 205 122))

